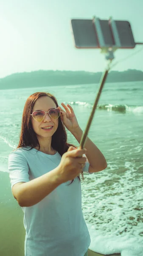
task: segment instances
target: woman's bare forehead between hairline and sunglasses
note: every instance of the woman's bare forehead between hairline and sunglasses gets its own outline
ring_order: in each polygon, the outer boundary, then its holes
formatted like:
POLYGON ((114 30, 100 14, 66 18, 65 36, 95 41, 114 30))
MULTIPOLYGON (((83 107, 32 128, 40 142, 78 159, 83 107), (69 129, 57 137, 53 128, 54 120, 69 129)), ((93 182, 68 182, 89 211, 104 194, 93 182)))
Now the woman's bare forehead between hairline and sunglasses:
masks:
POLYGON ((46 109, 47 108, 48 109, 56 108, 56 104, 53 101, 53 99, 51 99, 48 96, 43 96, 43 97, 40 97, 39 99, 37 99, 35 104, 34 104, 33 110, 36 110, 36 109, 44 110, 44 108, 46 108, 46 109))

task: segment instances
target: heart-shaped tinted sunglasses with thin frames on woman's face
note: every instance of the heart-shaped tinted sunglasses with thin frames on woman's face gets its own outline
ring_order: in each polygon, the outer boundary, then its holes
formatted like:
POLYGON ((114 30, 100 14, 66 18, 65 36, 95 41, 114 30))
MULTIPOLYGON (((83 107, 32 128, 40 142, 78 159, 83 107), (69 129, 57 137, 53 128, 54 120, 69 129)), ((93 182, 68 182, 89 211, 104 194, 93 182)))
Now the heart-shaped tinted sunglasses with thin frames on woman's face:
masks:
POLYGON ((42 120, 45 118, 46 113, 48 113, 48 115, 56 120, 59 118, 61 111, 59 110, 59 108, 52 108, 50 109, 48 112, 45 112, 44 110, 40 110, 40 111, 34 111, 32 114, 30 114, 31 116, 33 116, 34 120, 36 120, 37 122, 42 122, 42 120))

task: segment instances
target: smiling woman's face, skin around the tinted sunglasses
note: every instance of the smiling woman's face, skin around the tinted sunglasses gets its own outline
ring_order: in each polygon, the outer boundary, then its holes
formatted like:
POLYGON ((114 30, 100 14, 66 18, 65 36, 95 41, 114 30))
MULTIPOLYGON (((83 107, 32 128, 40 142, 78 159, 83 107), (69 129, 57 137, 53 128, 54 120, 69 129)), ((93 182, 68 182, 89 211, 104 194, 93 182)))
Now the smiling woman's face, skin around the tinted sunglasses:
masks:
MULTIPOLYGON (((49 111, 51 108, 56 108, 56 104, 48 96, 42 96, 39 99, 36 100, 34 104, 34 108, 32 110, 32 113, 37 110, 44 110, 45 112, 49 111)), ((34 132, 37 134, 38 137, 52 137, 52 135, 55 133, 56 129, 58 128, 58 119, 54 120, 52 119, 48 113, 46 113, 45 118, 41 122, 37 122, 34 120, 34 118, 31 116, 31 121, 32 121, 32 127, 34 132), (52 128, 50 130, 48 129, 43 129, 45 127, 50 127, 52 128)))

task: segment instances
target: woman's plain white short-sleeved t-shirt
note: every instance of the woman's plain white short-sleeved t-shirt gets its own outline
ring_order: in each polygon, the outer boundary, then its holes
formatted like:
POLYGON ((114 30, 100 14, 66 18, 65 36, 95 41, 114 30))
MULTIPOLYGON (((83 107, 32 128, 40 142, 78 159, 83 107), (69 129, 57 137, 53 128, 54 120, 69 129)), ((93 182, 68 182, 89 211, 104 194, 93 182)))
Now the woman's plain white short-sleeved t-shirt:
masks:
MULTIPOLYGON (((11 189, 55 169, 61 161, 58 152, 48 155, 35 148, 18 148, 8 157, 11 189)), ((88 172, 87 162, 83 171, 88 172)), ((89 173, 89 172, 88 172, 89 173)), ((81 209, 81 182, 75 178, 62 183, 42 201, 22 207, 24 212, 25 256, 84 256, 90 234, 81 209)))

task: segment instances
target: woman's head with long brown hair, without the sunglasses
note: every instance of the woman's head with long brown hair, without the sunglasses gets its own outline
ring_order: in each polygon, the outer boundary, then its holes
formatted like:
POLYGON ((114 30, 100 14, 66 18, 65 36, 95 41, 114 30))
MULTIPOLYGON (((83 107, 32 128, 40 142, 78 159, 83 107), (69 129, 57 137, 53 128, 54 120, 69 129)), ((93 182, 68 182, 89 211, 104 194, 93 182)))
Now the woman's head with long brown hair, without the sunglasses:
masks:
POLYGON ((46 114, 42 122, 37 122, 31 115, 34 111, 43 110, 48 112, 51 108, 57 108, 58 102, 56 98, 50 93, 37 92, 28 97, 25 102, 22 126, 20 134, 19 147, 30 146, 39 148, 39 138, 44 137, 51 141, 52 148, 56 149, 59 154, 64 154, 67 151, 67 134, 59 116, 59 119, 52 119, 46 114), (52 126, 51 131, 42 128, 52 126))

